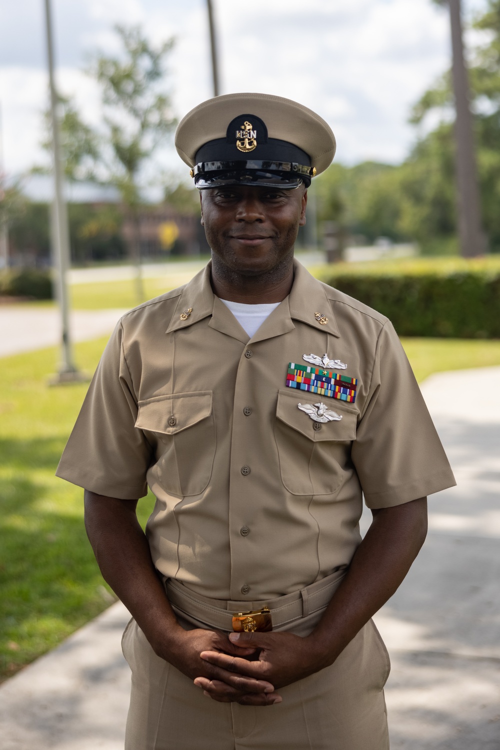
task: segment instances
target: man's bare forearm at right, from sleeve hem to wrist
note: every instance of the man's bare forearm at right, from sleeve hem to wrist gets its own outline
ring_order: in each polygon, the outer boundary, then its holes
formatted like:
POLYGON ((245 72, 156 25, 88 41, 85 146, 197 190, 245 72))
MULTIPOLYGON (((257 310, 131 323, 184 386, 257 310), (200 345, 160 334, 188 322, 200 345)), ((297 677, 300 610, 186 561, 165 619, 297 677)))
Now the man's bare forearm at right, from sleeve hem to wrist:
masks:
POLYGON ((394 594, 427 534, 427 498, 374 513, 349 571, 310 635, 318 658, 331 664, 394 594))

